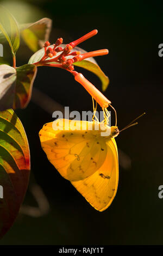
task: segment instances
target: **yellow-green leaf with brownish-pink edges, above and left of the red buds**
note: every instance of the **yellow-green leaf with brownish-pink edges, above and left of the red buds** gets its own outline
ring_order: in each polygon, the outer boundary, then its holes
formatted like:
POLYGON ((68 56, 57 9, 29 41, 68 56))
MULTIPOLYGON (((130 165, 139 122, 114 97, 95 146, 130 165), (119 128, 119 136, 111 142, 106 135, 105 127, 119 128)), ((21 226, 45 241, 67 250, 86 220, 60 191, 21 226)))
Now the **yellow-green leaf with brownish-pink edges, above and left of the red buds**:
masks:
POLYGON ((52 20, 48 18, 20 26, 22 38, 33 52, 42 48, 45 41, 49 39, 51 28, 52 20))

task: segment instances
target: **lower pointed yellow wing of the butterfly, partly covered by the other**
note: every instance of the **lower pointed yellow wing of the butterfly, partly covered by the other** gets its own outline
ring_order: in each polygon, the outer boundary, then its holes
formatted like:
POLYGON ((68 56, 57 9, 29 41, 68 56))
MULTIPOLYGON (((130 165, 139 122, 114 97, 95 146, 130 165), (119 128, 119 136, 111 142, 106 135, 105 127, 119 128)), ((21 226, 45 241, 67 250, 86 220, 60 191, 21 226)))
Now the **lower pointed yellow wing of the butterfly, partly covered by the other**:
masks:
POLYGON ((118 186, 118 155, 114 138, 107 144, 107 155, 101 168, 84 180, 71 182, 85 199, 98 211, 112 203, 118 186))

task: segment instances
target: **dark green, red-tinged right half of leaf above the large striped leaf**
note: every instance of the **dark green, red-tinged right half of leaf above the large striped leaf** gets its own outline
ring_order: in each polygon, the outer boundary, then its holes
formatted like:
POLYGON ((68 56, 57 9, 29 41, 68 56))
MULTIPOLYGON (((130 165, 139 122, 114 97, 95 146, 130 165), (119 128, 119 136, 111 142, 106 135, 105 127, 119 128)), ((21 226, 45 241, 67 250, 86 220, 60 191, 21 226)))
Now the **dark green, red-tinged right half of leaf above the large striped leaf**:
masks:
POLYGON ((17 80, 15 88, 15 100, 13 108, 27 107, 31 94, 33 82, 36 77, 37 67, 35 65, 23 65, 16 69, 17 80))

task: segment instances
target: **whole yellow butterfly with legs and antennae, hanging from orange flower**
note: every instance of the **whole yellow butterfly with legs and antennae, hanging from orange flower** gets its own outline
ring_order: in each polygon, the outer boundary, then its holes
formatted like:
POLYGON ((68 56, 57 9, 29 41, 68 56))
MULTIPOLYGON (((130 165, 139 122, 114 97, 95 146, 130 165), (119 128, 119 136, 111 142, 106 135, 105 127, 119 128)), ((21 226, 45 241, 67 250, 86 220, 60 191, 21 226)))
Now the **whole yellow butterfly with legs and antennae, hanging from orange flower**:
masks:
MULTIPOLYGON (((76 187, 93 208, 104 211, 117 192, 118 152, 115 137, 120 131, 116 125, 108 126, 110 114, 106 108, 103 108, 104 121, 99 123, 96 108, 93 104, 92 122, 57 119, 45 124, 39 136, 42 149, 58 172, 76 187)), ((133 124, 134 121, 124 129, 137 124, 133 124)))

